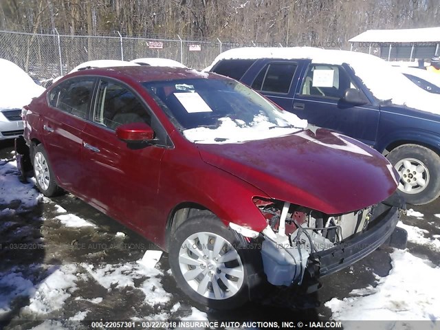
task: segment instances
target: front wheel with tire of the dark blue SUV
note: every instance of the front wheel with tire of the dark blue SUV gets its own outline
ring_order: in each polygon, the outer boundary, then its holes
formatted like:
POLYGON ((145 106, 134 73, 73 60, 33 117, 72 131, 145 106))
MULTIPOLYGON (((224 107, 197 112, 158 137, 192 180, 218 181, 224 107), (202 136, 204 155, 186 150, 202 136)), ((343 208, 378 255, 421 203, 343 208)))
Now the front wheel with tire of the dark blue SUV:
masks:
POLYGON ((440 195, 440 157, 430 148, 404 144, 387 156, 400 175, 399 190, 406 203, 430 203, 440 195))

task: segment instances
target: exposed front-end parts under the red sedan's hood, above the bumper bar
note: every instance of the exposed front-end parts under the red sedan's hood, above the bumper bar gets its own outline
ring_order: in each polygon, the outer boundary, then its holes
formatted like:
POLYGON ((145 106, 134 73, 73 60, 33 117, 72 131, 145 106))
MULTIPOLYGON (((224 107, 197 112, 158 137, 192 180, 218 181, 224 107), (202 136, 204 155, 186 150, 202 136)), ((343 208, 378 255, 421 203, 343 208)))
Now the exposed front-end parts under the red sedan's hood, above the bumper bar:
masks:
POLYGON ((309 256, 344 243, 363 232, 372 207, 348 214, 328 215, 282 201, 254 199, 267 220, 261 254, 267 281, 273 285, 300 285, 309 256))

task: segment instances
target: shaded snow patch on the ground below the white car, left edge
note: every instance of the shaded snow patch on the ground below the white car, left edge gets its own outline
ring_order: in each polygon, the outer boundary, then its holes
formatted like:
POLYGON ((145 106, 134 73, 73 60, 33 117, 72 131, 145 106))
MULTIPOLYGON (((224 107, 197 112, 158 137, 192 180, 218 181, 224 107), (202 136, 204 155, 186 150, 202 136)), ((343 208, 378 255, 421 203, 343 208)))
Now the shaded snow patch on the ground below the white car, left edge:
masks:
POLYGON ((42 195, 32 189, 33 186, 32 183, 20 182, 17 162, 6 162, 0 166, 0 206, 10 203, 17 203, 17 208, 36 206, 42 195))

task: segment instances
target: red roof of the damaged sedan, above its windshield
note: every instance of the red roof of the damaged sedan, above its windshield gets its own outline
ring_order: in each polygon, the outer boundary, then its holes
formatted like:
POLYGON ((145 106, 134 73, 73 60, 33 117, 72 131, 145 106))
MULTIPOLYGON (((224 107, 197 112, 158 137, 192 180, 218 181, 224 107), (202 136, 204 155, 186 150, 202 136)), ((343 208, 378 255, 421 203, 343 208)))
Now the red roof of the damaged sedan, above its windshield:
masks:
MULTIPOLYGON (((198 72, 195 69, 177 68, 177 67, 152 67, 147 65, 128 66, 128 67, 100 67, 83 69, 67 76, 107 76, 110 78, 126 78, 137 83, 147 83, 157 80, 177 80, 177 79, 195 79, 212 78, 221 76, 217 74, 208 74, 198 72)), ((226 79, 226 78, 225 78, 226 79)))

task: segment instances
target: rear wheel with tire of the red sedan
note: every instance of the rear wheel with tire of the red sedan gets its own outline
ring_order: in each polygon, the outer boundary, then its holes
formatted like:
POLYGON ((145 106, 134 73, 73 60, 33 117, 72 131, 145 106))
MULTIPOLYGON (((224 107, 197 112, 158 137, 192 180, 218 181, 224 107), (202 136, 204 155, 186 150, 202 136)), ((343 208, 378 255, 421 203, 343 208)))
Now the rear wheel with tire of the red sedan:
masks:
POLYGON ((41 193, 47 197, 60 195, 63 190, 56 184, 55 175, 43 144, 35 146, 32 153, 32 164, 34 166, 36 186, 41 193))

